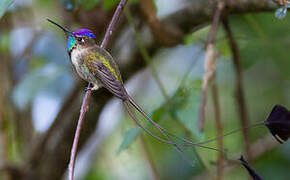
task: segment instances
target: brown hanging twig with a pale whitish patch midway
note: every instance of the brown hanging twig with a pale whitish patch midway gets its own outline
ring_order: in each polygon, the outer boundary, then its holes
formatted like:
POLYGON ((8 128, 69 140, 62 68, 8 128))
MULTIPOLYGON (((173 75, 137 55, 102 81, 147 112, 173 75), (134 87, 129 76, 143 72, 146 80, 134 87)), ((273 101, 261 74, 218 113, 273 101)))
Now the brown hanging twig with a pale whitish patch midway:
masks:
POLYGON ((224 9, 224 2, 219 1, 217 4, 217 10, 214 14, 211 30, 208 36, 208 42, 206 45, 206 55, 205 55, 205 75, 202 83, 202 95, 201 102, 199 107, 199 130, 203 130, 204 119, 205 119, 205 104, 207 97, 207 87, 209 80, 213 76, 213 72, 215 71, 215 59, 214 59, 214 39, 217 32, 217 27, 220 21, 220 17, 222 15, 222 11, 224 9), (210 65, 211 67, 208 67, 210 65))

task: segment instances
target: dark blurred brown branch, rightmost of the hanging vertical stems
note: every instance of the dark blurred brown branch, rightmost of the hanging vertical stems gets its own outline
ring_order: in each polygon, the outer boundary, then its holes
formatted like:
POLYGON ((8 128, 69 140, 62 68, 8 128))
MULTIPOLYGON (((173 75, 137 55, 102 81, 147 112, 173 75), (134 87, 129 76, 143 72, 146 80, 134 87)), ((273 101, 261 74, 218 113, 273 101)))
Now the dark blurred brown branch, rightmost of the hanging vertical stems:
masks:
POLYGON ((243 138, 245 143, 245 155, 247 159, 251 159, 251 151, 250 151, 250 137, 249 137, 249 130, 246 128, 249 126, 249 119, 248 119, 248 113, 247 113, 247 107, 246 107, 246 101, 244 97, 244 90, 243 90, 243 76, 242 76, 242 67, 241 67, 241 58, 240 58, 240 52, 238 48, 238 44, 233 36, 232 30, 230 28, 228 19, 225 18, 223 20, 223 26, 226 31, 226 34, 229 38, 229 44, 233 55, 233 62, 234 62, 234 68, 236 73, 236 101, 238 104, 238 111, 239 111, 239 117, 240 117, 240 123, 243 128, 243 138))

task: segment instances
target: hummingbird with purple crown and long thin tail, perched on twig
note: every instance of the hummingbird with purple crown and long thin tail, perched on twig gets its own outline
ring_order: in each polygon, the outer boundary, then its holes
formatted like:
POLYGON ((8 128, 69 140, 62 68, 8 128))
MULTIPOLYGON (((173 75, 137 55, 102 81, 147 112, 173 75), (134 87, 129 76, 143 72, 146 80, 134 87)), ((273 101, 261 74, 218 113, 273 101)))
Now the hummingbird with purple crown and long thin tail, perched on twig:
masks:
POLYGON ((67 37, 67 52, 70 57, 73 69, 83 80, 93 84, 90 89, 98 90, 99 88, 104 87, 114 96, 121 99, 129 116, 146 133, 163 143, 173 145, 176 150, 183 156, 185 155, 181 147, 184 146, 200 146, 202 148, 220 151, 215 148, 203 146, 202 143, 193 143, 190 140, 178 137, 153 121, 127 93, 118 65, 108 51, 97 45, 96 36, 92 33, 92 31, 89 29, 78 29, 76 31, 70 31, 50 19, 47 20, 64 31, 67 37), (133 106, 139 113, 141 113, 143 117, 147 119, 155 128, 157 128, 157 130, 164 137, 155 135, 147 128, 145 128, 135 117, 133 111, 130 108, 130 105, 133 106), (182 143, 173 141, 172 137, 179 139, 182 141, 182 143))

